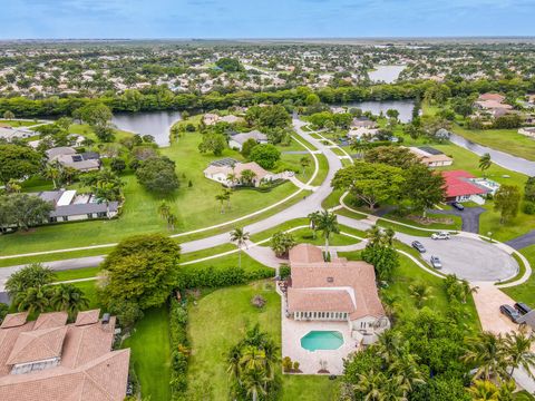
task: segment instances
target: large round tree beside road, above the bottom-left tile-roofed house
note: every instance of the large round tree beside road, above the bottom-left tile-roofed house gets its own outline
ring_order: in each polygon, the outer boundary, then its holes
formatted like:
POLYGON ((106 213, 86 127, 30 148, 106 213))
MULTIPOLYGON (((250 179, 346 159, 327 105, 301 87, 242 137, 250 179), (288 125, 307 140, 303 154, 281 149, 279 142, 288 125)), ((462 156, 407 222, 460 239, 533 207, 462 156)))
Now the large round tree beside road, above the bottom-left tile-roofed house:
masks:
POLYGON ((179 256, 178 244, 159 234, 123 239, 100 266, 101 300, 135 302, 142 311, 163 305, 177 283, 179 256))

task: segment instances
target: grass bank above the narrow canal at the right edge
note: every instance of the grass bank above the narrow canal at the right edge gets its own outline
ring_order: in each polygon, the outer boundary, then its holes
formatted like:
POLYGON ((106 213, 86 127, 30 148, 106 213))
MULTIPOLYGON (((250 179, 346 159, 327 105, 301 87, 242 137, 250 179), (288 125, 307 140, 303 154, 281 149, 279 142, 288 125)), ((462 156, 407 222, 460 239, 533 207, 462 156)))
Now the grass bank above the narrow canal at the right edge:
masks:
POLYGON ((454 126, 454 133, 476 144, 488 146, 496 150, 535 160, 535 139, 518 134, 518 129, 466 129, 454 126))

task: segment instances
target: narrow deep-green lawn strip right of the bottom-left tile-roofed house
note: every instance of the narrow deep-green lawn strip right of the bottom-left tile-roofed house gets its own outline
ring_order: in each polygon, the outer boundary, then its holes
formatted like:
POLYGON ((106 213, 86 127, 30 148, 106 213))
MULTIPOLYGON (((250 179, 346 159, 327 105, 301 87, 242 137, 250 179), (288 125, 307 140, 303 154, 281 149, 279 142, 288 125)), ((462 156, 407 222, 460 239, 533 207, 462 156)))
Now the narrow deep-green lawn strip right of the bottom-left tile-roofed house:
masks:
POLYGON ((123 343, 130 348, 134 366, 144 399, 167 401, 171 397, 171 344, 167 306, 152 309, 136 324, 134 333, 123 343))

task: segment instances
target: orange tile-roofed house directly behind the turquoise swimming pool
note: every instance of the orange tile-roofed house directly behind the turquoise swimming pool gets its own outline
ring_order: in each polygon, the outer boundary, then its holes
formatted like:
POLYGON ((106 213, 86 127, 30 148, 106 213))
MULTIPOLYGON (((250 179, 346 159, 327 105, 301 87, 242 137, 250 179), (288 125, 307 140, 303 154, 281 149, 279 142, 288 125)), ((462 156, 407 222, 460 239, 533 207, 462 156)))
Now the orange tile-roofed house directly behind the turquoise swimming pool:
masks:
POLYGON ((321 248, 300 244, 290 251, 291 281, 284 292, 286 316, 295 321, 347 322, 364 344, 390 327, 372 265, 339 257, 324 262, 321 248))

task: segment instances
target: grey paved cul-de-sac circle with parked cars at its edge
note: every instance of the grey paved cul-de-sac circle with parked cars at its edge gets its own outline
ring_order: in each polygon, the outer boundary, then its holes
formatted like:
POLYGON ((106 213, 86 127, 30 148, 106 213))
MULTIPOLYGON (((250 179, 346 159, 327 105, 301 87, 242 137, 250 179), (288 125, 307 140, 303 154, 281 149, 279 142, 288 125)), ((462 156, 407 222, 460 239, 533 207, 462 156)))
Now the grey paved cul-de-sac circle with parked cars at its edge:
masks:
POLYGON ((510 278, 518 272, 518 264, 505 251, 485 241, 453 235, 451 239, 431 239, 398 233, 396 237, 410 245, 419 241, 426 247, 421 257, 430 265, 430 257, 442 262, 441 272, 455 274, 469 282, 497 282, 510 278))

